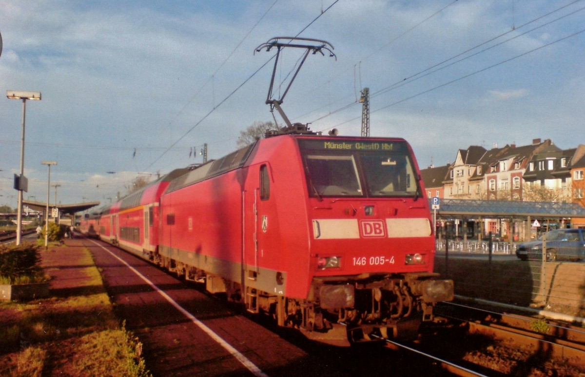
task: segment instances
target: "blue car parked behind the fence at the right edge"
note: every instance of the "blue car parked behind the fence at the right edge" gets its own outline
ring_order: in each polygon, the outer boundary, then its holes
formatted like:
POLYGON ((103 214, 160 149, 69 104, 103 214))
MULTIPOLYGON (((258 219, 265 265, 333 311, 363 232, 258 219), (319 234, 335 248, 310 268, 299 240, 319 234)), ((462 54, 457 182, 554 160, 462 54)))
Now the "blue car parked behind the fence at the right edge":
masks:
MULTIPOLYGON (((555 229, 546 232, 546 260, 580 261, 585 259, 585 229, 555 229)), ((516 256, 522 261, 542 260, 542 237, 519 244, 516 256)))

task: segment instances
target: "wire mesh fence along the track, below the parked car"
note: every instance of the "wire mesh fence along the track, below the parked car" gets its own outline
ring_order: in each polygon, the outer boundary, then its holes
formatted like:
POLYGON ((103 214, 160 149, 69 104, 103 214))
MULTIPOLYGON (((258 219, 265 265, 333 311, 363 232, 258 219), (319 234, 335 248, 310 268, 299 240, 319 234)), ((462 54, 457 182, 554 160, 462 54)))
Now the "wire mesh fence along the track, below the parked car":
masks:
MULTIPOLYGON (((491 255, 500 256, 493 259, 488 258, 490 243, 487 241, 437 241, 435 271, 453 279, 455 293, 460 296, 585 317, 584 259, 552 260, 545 243, 544 255, 539 252, 521 261, 515 258, 517 246, 492 242, 491 255), (466 253, 485 257, 465 258, 466 253)), ((559 246, 556 252, 558 257, 575 256, 574 251, 559 246)))

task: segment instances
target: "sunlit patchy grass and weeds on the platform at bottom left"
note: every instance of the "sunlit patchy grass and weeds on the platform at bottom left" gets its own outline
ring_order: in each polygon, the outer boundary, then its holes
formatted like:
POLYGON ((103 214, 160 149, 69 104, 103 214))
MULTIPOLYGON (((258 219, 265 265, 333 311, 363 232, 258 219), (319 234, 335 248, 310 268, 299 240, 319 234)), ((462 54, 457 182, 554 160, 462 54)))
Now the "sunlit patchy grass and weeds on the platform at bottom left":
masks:
POLYGON ((149 376, 142 344, 113 313, 91 254, 75 296, 0 303, 0 376, 149 376))

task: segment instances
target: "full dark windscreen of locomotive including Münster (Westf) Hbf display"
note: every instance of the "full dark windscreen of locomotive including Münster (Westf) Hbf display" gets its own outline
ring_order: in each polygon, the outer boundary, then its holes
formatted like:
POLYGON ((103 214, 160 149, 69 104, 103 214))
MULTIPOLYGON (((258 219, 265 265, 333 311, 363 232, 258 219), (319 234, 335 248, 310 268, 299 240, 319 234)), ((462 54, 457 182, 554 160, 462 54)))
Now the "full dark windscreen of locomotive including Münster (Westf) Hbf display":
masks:
POLYGON ((420 194, 405 142, 300 139, 312 197, 395 197, 420 194))

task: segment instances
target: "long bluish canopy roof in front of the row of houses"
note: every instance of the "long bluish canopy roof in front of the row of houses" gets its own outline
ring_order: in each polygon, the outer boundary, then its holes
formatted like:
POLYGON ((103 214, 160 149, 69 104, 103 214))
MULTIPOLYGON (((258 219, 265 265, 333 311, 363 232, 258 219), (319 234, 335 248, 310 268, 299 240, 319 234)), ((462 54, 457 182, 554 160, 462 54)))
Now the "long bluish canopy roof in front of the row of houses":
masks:
MULTIPOLYGON (((429 207, 431 207, 431 199, 429 199, 429 207)), ((436 214, 442 218, 572 218, 585 217, 585 208, 577 203, 440 198, 436 214)))

